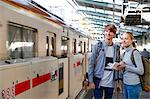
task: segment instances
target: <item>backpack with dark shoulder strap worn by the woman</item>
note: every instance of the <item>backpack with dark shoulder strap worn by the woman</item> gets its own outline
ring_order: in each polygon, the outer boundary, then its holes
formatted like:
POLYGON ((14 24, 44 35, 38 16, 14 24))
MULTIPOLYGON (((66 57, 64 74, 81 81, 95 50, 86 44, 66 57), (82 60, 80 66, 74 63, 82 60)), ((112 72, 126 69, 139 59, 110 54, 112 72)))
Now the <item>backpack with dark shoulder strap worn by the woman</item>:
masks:
MULTIPOLYGON (((132 51, 131 61, 136 66, 135 60, 134 60, 134 55, 133 55, 133 52, 135 50, 137 50, 137 49, 134 49, 132 51)), ((142 63, 143 63, 143 67, 144 67, 144 74, 140 75, 140 81, 141 81, 142 89, 144 91, 150 92, 150 61, 147 58, 144 58, 143 56, 141 56, 141 58, 142 58, 142 63)))

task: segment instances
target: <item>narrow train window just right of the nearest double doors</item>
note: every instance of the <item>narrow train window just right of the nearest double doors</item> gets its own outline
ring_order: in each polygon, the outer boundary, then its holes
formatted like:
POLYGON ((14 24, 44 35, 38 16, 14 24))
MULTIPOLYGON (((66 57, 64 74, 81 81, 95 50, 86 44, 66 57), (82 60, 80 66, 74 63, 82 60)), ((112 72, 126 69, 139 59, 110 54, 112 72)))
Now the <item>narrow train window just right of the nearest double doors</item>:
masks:
POLYGON ((61 57, 67 57, 68 51, 68 38, 62 36, 61 37, 61 57))

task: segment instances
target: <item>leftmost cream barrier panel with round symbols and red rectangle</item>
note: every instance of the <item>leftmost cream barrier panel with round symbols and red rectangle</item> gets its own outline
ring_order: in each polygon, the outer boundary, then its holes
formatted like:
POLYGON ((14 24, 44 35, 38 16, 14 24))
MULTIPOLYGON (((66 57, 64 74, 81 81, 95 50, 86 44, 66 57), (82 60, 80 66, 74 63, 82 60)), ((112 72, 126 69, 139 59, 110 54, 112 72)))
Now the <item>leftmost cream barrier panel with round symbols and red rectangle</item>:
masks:
POLYGON ((0 99, 30 99, 30 67, 30 62, 1 65, 0 99))

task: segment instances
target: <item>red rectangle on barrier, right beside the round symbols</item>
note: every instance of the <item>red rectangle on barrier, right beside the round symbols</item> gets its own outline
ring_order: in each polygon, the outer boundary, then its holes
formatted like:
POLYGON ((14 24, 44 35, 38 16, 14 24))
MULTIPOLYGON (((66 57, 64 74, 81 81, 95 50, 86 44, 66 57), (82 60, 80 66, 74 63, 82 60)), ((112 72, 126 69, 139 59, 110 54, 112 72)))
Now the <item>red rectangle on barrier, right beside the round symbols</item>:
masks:
POLYGON ((15 96, 30 89, 30 80, 15 85, 15 96))

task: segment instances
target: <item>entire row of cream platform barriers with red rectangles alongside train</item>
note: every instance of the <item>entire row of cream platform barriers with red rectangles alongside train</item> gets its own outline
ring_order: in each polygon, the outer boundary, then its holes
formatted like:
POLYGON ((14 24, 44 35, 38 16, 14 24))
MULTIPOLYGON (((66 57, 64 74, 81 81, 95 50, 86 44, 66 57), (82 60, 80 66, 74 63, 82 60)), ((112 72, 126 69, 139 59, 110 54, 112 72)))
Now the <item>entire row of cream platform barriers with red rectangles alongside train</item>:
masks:
POLYGON ((0 99, 75 99, 85 67, 83 54, 0 62, 0 99))

